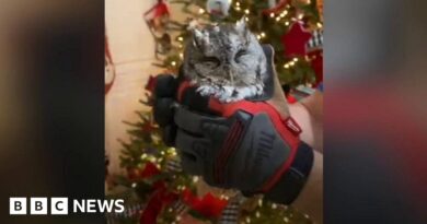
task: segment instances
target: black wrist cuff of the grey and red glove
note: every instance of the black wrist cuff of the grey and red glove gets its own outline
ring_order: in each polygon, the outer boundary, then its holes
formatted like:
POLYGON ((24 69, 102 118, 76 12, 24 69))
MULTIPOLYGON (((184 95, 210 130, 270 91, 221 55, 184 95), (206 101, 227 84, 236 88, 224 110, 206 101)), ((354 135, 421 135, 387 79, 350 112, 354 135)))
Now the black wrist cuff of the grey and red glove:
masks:
POLYGON ((264 198, 280 204, 292 203, 305 185, 313 166, 313 149, 301 141, 289 169, 265 193, 264 198))

